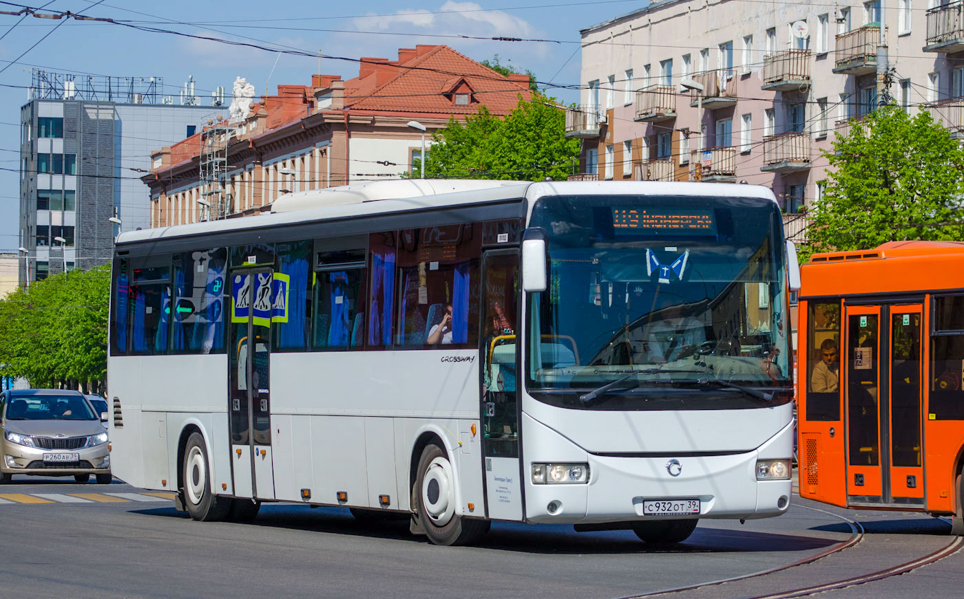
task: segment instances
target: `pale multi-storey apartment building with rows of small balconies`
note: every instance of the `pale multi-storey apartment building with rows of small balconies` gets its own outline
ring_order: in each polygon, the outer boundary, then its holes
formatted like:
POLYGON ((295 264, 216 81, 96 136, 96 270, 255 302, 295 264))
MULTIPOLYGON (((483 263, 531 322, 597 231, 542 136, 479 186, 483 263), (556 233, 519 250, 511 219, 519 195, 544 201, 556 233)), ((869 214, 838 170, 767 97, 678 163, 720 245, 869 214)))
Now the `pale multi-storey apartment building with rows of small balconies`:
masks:
POLYGON ((881 39, 897 102, 964 124, 962 3, 926 2, 655 1, 581 30, 567 135, 590 177, 745 181, 803 213, 835 132, 878 105, 881 39))

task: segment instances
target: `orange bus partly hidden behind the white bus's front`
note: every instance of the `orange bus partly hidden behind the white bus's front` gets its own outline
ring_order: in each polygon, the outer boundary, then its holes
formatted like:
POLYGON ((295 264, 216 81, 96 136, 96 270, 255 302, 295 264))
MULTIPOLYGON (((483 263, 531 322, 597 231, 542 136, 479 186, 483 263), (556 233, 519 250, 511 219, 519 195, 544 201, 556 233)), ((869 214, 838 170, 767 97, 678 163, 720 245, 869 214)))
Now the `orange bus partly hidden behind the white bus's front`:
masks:
POLYGON ((964 243, 818 253, 800 280, 800 495, 964 534, 964 243))

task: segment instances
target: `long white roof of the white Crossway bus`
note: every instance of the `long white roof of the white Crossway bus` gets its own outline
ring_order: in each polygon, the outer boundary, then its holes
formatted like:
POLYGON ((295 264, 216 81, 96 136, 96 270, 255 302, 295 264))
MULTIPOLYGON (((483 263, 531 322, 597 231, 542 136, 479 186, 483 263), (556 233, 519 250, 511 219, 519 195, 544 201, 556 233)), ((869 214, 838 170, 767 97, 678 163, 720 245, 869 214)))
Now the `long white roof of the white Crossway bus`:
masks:
POLYGON ((513 199, 521 201, 522 198, 531 200, 544 195, 692 195, 752 197, 776 202, 773 193, 764 187, 730 183, 400 179, 282 195, 272 204, 271 212, 250 217, 125 231, 118 236, 117 245, 513 199))

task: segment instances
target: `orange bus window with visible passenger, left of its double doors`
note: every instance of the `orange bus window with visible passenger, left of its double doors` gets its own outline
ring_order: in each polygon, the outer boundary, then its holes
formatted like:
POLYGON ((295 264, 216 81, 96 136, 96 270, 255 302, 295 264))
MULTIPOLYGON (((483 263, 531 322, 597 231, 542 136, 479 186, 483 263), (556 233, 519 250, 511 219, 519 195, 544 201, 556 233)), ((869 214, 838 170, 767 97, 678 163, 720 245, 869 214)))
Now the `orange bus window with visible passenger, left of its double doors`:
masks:
POLYGON ((841 419, 841 304, 815 302, 809 311, 807 420, 837 421, 841 419))

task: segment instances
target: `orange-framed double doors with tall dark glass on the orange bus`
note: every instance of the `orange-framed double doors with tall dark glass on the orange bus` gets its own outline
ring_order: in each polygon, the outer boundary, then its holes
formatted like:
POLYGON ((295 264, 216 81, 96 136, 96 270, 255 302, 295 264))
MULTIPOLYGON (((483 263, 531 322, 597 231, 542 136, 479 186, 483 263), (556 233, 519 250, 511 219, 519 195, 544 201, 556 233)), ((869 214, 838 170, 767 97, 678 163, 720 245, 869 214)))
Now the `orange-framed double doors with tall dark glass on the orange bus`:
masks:
POLYGON ((921 304, 847 306, 847 501, 924 502, 921 304))

